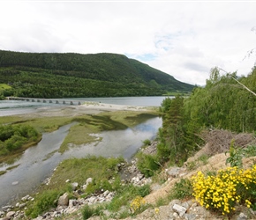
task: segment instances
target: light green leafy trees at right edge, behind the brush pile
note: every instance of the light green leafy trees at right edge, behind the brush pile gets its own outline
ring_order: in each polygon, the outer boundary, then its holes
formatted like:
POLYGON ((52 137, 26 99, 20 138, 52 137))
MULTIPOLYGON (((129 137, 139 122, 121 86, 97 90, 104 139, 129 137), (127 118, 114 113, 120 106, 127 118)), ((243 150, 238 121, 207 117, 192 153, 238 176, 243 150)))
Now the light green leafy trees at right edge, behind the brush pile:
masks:
POLYGON ((255 68, 248 77, 241 78, 236 73, 221 76, 218 69, 211 70, 205 88, 194 89, 192 95, 186 99, 186 117, 202 128, 252 132, 256 129, 256 98, 242 85, 237 84, 234 78, 255 92, 255 76, 255 68))

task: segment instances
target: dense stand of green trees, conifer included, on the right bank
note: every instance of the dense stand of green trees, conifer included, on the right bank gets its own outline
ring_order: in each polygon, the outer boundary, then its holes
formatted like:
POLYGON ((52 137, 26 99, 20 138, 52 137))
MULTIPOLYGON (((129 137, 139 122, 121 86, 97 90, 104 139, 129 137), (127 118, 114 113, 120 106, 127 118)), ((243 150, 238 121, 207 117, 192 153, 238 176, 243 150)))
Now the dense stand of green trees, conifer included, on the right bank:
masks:
POLYGON ((204 141, 202 131, 221 129, 255 134, 256 96, 253 92, 256 92, 256 68, 247 77, 240 78, 236 73, 221 75, 214 68, 206 86, 195 88, 188 98, 164 99, 160 108, 162 128, 158 133, 157 155, 140 158, 144 174, 152 174, 148 171, 157 170, 167 161, 183 165, 200 149, 204 141))

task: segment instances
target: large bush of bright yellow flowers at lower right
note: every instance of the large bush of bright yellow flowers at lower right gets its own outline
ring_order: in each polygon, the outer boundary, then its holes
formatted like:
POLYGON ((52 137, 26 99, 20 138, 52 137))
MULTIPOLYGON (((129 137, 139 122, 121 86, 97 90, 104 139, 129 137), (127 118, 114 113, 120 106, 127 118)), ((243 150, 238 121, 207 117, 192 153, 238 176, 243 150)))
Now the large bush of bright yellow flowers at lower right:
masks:
POLYGON ((220 209, 222 214, 235 210, 237 203, 245 202, 250 208, 250 189, 256 188, 256 165, 252 169, 229 167, 217 172, 215 176, 205 176, 198 172, 192 177, 193 195, 201 206, 220 209), (247 196, 247 197, 246 197, 247 196))

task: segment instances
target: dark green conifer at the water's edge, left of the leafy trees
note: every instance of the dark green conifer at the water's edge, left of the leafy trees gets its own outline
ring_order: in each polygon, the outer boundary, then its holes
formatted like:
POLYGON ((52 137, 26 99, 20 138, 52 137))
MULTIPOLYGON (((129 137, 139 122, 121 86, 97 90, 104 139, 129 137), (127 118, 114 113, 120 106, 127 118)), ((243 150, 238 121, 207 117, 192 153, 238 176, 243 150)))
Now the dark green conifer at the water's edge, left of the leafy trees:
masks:
POLYGON ((197 124, 189 123, 184 108, 185 99, 165 99, 162 102, 162 128, 159 130, 160 143, 157 146, 159 161, 182 165, 197 149, 200 142, 197 124))

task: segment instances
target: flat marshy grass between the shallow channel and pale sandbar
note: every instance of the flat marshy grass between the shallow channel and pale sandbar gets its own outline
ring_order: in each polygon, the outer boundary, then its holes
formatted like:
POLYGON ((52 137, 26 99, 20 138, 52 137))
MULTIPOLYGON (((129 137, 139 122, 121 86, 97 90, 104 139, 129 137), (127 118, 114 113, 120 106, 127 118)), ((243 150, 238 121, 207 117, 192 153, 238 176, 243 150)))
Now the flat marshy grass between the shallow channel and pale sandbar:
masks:
MULTIPOLYGON (((94 133, 100 133, 102 130, 125 129, 155 117, 157 113, 152 111, 141 113, 139 111, 117 111, 103 112, 101 114, 84 114, 80 116, 54 116, 54 117, 39 117, 34 115, 15 115, 5 116, 1 118, 3 124, 26 124, 36 128, 39 132, 52 132, 61 126, 78 122, 70 128, 68 135, 65 137, 59 151, 68 150, 69 143, 80 145, 83 143, 93 143, 97 139, 92 136, 94 133)), ((19 156, 25 149, 16 154, 7 157, 1 157, 0 162, 8 161, 10 158, 19 156)))

